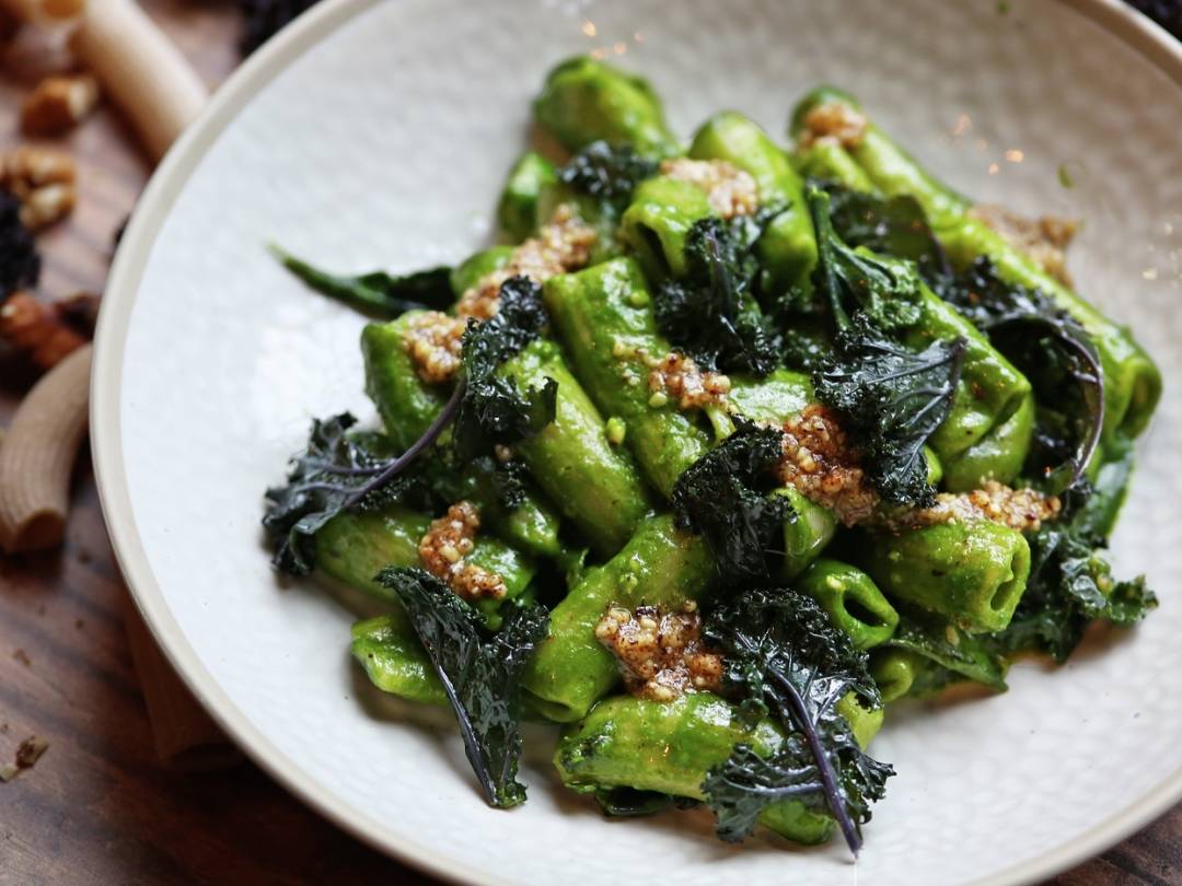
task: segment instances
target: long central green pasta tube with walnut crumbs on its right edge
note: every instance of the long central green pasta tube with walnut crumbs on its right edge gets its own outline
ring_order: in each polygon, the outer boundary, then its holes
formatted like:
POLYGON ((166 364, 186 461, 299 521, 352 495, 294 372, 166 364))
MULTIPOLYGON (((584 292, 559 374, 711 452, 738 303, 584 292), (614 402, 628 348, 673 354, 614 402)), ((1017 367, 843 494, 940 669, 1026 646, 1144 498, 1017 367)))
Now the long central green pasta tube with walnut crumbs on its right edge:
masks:
POLYGON ((652 319, 639 266, 613 259, 544 287, 546 307, 571 366, 602 415, 622 429, 641 469, 662 495, 710 447, 712 437, 673 400, 654 399, 643 348, 661 358, 669 345, 652 319))

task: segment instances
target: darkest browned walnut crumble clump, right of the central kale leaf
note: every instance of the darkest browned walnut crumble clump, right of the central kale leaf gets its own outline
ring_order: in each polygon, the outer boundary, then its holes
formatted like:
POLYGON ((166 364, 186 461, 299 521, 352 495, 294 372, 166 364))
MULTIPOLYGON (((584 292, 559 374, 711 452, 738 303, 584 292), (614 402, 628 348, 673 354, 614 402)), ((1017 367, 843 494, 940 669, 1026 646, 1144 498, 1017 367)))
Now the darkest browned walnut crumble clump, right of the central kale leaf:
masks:
POLYGON ((784 457, 777 474, 781 483, 831 509, 845 526, 865 521, 878 504, 837 416, 816 403, 784 423, 784 457))

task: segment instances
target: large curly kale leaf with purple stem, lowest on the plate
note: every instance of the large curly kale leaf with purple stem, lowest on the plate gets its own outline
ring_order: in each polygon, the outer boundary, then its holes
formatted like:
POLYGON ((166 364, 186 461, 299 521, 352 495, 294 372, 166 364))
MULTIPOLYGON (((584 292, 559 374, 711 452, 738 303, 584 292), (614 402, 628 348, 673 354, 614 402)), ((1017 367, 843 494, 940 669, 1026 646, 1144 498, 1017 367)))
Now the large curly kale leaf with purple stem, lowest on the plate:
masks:
POLYGON ((830 813, 856 854, 870 803, 894 770, 869 757, 836 705, 853 692, 881 703, 856 650, 812 598, 787 588, 749 588, 710 612, 702 628, 723 653, 723 692, 752 719, 771 716, 786 741, 767 757, 736 745, 710 769, 702 791, 719 819, 719 836, 742 840, 759 814, 785 797, 830 813))

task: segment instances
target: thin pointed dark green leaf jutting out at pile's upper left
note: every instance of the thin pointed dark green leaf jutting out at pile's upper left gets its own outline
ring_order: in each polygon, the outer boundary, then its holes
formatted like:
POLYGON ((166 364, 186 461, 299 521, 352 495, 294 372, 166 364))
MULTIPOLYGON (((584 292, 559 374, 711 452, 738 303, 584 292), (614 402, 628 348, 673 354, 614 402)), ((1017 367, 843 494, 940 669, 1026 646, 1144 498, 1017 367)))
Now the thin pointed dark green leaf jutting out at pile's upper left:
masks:
POLYGON ((346 276, 314 268, 275 245, 269 248, 282 266, 309 287, 370 317, 394 319, 407 311, 446 311, 455 301, 449 267, 428 268, 411 274, 374 271, 346 276))

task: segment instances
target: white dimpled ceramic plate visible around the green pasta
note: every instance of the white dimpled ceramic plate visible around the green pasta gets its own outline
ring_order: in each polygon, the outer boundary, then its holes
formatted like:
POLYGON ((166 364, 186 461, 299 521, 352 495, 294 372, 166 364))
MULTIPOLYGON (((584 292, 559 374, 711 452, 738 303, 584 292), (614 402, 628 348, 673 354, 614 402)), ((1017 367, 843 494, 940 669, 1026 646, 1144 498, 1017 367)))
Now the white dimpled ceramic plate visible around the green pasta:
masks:
MULTIPOLYGON (((248 61, 152 180, 106 294, 93 444, 128 581, 196 695, 282 783, 358 836, 475 882, 1028 881, 1182 796, 1178 245, 1182 56, 1115 2, 369 0, 327 2, 248 61), (1168 385, 1116 539, 1162 607, 1008 695, 892 717, 900 775, 857 866, 840 846, 728 848, 709 822, 609 822, 553 783, 479 800, 459 742, 363 703, 350 617, 280 588, 260 494, 312 416, 362 395, 362 318, 264 252, 414 268, 483 243, 543 73, 574 52, 651 77, 688 135, 720 108, 782 132, 819 82, 862 97, 957 188, 1084 219, 1072 269, 1168 385), (1060 182, 1065 169, 1073 187, 1060 182)), ((243 840, 249 835, 243 834, 243 840)))

